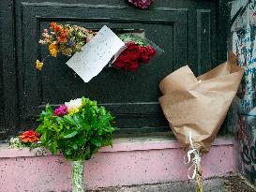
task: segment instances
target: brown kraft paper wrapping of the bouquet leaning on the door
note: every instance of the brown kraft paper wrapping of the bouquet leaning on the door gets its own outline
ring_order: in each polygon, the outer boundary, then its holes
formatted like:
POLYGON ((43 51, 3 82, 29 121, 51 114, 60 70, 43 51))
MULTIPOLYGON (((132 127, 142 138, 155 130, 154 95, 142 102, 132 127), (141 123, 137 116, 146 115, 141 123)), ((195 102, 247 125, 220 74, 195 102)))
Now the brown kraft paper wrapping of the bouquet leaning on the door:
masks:
POLYGON ((160 106, 185 150, 190 132, 195 148, 201 154, 209 152, 243 73, 242 67, 225 62, 196 78, 188 66, 183 66, 160 82, 160 106))

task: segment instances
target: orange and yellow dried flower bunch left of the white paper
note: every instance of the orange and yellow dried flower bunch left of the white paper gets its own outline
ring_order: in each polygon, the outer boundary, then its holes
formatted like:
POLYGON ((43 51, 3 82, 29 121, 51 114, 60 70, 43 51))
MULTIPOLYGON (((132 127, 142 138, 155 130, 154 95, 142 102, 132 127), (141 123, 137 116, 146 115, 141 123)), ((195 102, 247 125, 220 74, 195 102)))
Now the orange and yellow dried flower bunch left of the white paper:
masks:
MULTIPOLYGON (((75 52, 81 52, 83 46, 94 37, 95 33, 85 29, 82 26, 59 24, 51 22, 50 31, 44 29, 42 39, 39 39, 39 44, 47 45, 49 55, 57 57, 58 53, 62 53, 70 57, 75 52)), ((43 67, 44 58, 41 62, 36 61, 36 67, 41 70, 43 67)))

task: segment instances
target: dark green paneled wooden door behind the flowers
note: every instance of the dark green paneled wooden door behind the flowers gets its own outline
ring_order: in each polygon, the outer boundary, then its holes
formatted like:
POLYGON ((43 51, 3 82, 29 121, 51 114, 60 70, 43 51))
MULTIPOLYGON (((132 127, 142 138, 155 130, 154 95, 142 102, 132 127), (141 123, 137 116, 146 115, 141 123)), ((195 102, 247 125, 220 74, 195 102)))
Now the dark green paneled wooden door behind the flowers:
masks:
MULTIPOLYGON (((200 74, 218 63, 218 2, 214 0, 158 0, 148 10, 130 7, 125 0, 15 0, 10 6, 17 87, 15 94, 9 93, 17 98, 10 112, 19 117, 15 124, 19 128, 31 125, 46 103, 58 105, 89 96, 113 111, 119 134, 164 132, 169 126, 158 105, 159 81, 186 64, 200 74), (165 53, 134 73, 105 67, 88 83, 65 64, 67 57, 49 59, 38 73, 34 61, 47 55, 38 38, 50 22, 90 29, 104 24, 113 30, 140 29, 165 53)), ((8 96, 3 98, 11 103, 8 96)), ((19 128, 12 128, 10 134, 19 128)))

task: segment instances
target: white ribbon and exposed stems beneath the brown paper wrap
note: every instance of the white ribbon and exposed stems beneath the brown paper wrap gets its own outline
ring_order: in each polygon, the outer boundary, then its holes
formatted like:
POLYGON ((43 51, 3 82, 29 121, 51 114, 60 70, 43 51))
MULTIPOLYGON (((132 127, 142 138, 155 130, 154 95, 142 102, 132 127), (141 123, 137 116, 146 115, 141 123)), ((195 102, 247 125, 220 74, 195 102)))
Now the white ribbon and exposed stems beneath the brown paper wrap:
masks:
POLYGON ((199 151, 194 147, 192 134, 189 132, 190 150, 187 155, 184 156, 184 163, 190 164, 188 168, 188 179, 196 180, 196 192, 203 192, 203 178, 202 178, 202 166, 201 166, 201 155, 199 151), (193 170, 192 175, 190 175, 193 170))

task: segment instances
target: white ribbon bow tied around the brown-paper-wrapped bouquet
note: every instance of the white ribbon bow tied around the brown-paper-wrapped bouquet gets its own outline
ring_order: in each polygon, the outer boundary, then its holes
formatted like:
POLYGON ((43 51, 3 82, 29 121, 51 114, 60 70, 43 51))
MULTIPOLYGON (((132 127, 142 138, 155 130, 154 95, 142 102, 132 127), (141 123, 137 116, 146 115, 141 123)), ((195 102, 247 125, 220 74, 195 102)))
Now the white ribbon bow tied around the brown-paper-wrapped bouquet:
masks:
POLYGON ((190 149, 188 150, 187 155, 184 156, 184 163, 191 164, 188 168, 188 179, 195 179, 197 171, 200 169, 201 163, 201 156, 199 151, 194 147, 192 134, 189 132, 189 142, 190 142, 190 149), (193 169, 193 174, 190 175, 190 171, 193 169))

